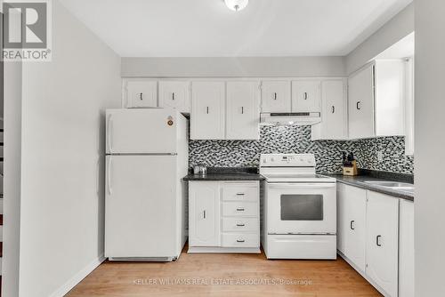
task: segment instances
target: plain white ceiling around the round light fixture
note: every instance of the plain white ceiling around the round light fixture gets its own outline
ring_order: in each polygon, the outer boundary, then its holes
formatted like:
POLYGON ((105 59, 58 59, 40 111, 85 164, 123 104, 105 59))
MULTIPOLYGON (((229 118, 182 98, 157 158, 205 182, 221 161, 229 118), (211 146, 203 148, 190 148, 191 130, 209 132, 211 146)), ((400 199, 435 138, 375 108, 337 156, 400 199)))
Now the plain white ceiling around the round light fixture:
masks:
POLYGON ((344 56, 412 0, 61 0, 122 57, 344 56))

